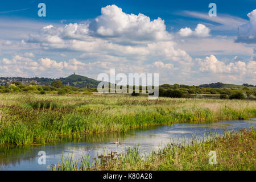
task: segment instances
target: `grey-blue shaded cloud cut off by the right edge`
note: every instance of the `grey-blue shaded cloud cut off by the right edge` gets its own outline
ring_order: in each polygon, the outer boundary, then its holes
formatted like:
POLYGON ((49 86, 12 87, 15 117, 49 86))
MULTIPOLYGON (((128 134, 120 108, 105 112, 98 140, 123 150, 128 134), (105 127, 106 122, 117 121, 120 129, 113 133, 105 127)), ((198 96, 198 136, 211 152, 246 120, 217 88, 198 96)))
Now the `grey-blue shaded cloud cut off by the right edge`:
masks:
POLYGON ((256 44, 256 9, 247 14, 250 21, 238 27, 236 42, 256 44))

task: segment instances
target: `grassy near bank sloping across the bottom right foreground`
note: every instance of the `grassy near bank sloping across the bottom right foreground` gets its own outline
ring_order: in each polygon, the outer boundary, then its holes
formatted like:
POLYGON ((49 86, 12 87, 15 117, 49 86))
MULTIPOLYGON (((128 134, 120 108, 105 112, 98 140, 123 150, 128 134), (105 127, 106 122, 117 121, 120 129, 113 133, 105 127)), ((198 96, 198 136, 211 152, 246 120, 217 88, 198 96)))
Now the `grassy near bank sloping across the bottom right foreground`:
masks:
POLYGON ((72 157, 62 158, 52 170, 246 170, 256 169, 256 130, 228 132, 205 142, 193 140, 189 144, 169 143, 160 152, 141 156, 138 148, 124 154, 99 156, 90 163, 84 156, 74 162, 72 157), (210 151, 216 152, 217 164, 209 164, 210 151))

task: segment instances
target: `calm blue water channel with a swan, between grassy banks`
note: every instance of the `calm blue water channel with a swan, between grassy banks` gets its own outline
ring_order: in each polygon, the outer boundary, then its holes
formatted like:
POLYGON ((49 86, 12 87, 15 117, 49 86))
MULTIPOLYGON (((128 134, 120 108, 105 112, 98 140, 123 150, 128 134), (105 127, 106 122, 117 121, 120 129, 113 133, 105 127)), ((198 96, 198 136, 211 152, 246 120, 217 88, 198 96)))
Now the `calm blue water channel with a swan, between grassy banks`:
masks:
POLYGON ((225 121, 204 125, 174 124, 171 126, 147 127, 130 130, 125 134, 108 133, 85 135, 81 139, 64 138, 40 146, 0 146, 0 170, 50 170, 51 164, 60 162, 61 156, 73 154, 73 159, 81 159, 82 155, 90 155, 91 159, 103 151, 123 152, 129 147, 139 144, 141 152, 149 153, 158 150, 170 140, 189 141, 192 136, 203 138, 210 133, 223 134, 225 130, 240 130, 256 127, 256 118, 247 121, 225 121), (114 144, 119 138, 119 144, 114 144), (39 151, 46 152, 46 164, 39 165, 39 151))

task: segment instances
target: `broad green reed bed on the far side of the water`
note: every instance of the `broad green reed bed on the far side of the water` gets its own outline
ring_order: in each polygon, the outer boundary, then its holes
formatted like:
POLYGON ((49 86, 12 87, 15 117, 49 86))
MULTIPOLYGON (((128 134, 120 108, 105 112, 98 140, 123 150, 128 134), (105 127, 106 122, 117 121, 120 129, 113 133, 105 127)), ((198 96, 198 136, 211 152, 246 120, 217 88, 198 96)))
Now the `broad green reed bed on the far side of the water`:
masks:
POLYGON ((0 94, 0 144, 45 143, 140 126, 256 117, 256 101, 128 95, 0 94))

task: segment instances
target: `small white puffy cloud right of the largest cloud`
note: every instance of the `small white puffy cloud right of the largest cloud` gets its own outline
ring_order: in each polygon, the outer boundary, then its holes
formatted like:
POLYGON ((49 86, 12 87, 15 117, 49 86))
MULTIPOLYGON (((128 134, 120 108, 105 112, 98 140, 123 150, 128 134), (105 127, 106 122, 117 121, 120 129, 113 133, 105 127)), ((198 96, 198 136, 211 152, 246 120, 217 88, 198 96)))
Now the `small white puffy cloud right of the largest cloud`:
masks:
POLYGON ((194 31, 191 30, 191 28, 181 28, 178 32, 180 36, 188 37, 188 36, 196 36, 196 37, 202 37, 205 38, 207 36, 210 36, 210 28, 206 27, 204 24, 197 24, 194 31))

